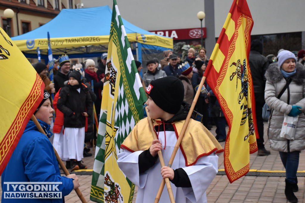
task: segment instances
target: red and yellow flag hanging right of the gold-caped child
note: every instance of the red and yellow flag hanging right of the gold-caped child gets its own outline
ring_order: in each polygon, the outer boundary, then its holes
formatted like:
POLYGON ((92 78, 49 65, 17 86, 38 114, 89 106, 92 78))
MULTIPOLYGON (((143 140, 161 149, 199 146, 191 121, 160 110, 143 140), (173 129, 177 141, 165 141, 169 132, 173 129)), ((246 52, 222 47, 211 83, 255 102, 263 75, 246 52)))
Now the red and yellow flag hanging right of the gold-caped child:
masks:
POLYGON ((224 168, 230 183, 249 172, 249 154, 257 151, 255 100, 248 63, 252 27, 246 0, 234 0, 204 73, 229 126, 224 168))

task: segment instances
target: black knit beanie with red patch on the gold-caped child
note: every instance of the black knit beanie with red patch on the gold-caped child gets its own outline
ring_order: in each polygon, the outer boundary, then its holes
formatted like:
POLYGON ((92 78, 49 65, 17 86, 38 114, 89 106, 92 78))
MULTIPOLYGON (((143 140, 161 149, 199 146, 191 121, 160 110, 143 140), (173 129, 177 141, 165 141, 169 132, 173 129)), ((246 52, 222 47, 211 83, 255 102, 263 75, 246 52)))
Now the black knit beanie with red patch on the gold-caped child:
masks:
POLYGON ((151 81, 146 93, 165 112, 176 114, 183 102, 184 87, 181 80, 168 76, 151 81))

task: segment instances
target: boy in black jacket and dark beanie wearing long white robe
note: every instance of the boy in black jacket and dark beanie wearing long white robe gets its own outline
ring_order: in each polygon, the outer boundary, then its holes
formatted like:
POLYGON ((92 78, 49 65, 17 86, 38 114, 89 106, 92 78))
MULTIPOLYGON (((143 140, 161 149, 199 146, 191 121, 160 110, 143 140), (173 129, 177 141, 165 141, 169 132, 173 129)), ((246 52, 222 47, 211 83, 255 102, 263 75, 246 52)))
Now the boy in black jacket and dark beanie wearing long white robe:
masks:
POLYGON ((69 158, 71 171, 86 169, 81 164, 84 150, 86 118, 93 112, 88 89, 81 84, 81 73, 69 73, 69 83, 59 92, 57 108, 64 114, 63 157, 69 158), (69 146, 68 146, 69 145, 69 146))

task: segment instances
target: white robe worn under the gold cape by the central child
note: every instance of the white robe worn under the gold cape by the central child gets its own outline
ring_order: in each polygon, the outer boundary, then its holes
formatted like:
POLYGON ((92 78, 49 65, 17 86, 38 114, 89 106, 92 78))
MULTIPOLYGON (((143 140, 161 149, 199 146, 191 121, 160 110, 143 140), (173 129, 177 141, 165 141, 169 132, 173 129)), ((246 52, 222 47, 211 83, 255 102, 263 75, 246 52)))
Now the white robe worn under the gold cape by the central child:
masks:
MULTIPOLYGON (((177 142, 177 138, 174 131, 165 131, 165 134, 166 148, 165 150, 162 149, 162 155, 165 165, 167 165, 177 142)), ((164 132, 159 132, 159 140, 164 148, 164 132)), ((138 186, 136 203, 153 203, 162 181, 160 160, 158 158, 154 166, 144 173, 139 174, 138 156, 142 152, 143 151, 135 151, 132 153, 124 150, 118 154, 117 162, 120 169, 129 180, 138 186)), ((192 187, 176 187, 174 184, 170 183, 176 203, 207 202, 206 189, 218 172, 218 156, 215 152, 211 155, 199 158, 195 165, 186 167, 184 156, 179 148, 171 168, 184 169, 192 184, 192 187)), ((159 202, 170 202, 166 185, 164 186, 159 202)))

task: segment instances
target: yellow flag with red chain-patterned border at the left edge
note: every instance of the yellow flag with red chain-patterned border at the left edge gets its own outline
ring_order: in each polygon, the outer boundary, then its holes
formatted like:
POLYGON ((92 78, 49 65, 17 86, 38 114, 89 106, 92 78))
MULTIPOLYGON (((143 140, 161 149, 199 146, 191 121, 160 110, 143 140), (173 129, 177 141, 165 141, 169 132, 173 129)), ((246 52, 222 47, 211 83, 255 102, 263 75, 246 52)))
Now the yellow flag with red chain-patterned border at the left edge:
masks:
POLYGON ((45 87, 33 66, 0 27, 0 175, 45 87))

